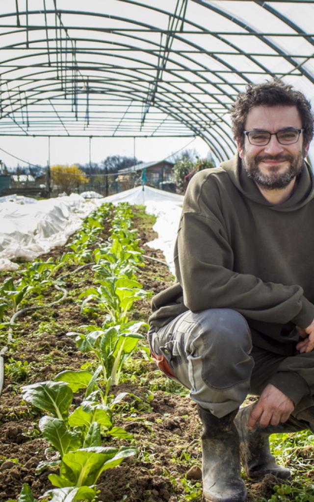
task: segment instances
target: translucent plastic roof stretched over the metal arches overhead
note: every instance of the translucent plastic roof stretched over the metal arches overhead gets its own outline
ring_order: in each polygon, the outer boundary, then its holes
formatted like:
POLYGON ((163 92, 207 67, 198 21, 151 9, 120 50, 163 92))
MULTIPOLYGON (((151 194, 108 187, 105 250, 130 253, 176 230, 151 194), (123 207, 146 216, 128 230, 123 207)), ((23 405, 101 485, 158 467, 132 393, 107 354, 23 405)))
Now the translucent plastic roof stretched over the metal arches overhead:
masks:
POLYGON ((192 134, 226 160, 247 83, 279 78, 314 103, 313 12, 309 0, 7 0, 0 134, 192 134))

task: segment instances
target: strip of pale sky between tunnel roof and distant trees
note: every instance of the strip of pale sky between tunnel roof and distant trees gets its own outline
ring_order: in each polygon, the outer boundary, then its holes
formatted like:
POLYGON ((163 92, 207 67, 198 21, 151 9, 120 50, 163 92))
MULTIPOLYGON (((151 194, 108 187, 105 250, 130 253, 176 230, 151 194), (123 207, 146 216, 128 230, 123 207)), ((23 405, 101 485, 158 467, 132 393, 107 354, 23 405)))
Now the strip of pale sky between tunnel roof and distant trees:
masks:
MULTIPOLYGON (((199 157, 210 152, 208 145, 200 138, 136 138, 135 157, 143 162, 163 160, 179 150, 195 150, 199 157)), ((99 163, 111 155, 134 157, 133 138, 92 138, 90 148, 91 162, 99 163)), ((0 136, 0 160, 7 167, 39 164, 46 166, 49 160, 48 138, 29 138, 24 136, 0 136), (19 157, 24 162, 8 155, 3 150, 19 157)), ((89 163, 88 138, 51 138, 50 165, 89 163)))

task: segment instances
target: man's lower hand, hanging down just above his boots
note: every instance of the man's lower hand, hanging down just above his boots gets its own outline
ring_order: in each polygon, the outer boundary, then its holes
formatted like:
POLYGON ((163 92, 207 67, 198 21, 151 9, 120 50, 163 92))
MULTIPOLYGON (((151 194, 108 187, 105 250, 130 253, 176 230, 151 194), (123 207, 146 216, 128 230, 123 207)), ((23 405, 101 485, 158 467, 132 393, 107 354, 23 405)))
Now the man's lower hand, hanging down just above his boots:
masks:
POLYGON ((293 409, 293 401, 277 387, 268 384, 251 412, 248 426, 253 429, 257 423, 261 427, 267 427, 286 422, 293 409))

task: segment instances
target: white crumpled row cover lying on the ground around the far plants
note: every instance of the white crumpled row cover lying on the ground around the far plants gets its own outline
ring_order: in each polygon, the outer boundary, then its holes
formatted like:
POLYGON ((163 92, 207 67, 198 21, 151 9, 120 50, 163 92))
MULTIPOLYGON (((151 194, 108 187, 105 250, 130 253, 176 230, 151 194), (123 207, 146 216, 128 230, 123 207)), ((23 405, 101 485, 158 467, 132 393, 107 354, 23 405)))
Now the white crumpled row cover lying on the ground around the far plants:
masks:
POLYGON ((129 202, 145 205, 148 213, 157 216, 154 230, 158 238, 149 245, 163 250, 170 270, 174 271, 173 246, 182 195, 145 186, 144 191, 136 187, 110 197, 89 200, 71 194, 40 201, 10 196, 0 198, 0 202, 0 270, 17 270, 19 266, 12 260, 32 261, 55 246, 64 245, 80 227, 82 219, 103 202, 129 202))

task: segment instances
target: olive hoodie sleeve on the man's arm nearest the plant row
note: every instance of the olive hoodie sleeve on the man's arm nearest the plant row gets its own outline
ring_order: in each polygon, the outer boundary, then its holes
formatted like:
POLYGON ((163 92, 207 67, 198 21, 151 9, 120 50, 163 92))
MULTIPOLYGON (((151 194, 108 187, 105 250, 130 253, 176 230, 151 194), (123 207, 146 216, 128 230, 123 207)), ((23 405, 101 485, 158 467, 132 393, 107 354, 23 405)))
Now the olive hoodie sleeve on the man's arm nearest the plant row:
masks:
POLYGON ((186 198, 177 237, 176 276, 183 301, 192 312, 208 308, 235 309, 248 319, 307 327, 314 305, 298 285, 263 282, 233 271, 233 249, 227 232, 214 212, 199 211, 186 198))

